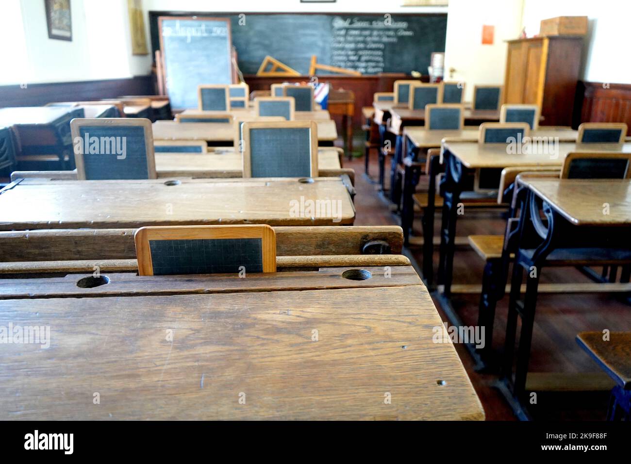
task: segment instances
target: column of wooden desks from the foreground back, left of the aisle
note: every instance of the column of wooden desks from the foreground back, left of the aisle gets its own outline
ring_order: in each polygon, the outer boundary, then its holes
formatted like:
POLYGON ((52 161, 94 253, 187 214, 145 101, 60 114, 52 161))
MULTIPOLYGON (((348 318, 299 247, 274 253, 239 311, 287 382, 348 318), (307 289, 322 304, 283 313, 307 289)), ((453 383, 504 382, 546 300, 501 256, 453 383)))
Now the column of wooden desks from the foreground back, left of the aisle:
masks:
MULTIPOLYGON (((232 141, 218 126, 154 138, 232 141)), ((350 227, 344 176, 185 178, 240 175, 233 148, 155 159, 168 179, 16 173, 0 190, 0 325, 48 331, 3 350, 0 419, 484 419, 401 229, 350 227), (282 271, 134 272, 139 227, 251 223, 275 227, 282 271)))

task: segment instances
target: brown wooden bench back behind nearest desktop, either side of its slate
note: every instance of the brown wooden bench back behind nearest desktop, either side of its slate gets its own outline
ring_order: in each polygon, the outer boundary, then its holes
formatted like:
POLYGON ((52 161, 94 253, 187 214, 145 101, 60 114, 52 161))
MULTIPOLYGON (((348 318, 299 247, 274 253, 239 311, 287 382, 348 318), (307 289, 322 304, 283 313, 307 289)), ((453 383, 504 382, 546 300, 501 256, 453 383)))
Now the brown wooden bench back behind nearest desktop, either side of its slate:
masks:
MULTIPOLYGON (((276 270, 407 266, 401 227, 272 227, 276 270)), ((136 229, 39 229, 0 232, 0 275, 62 277, 69 273, 138 272, 136 229), (51 275, 54 274, 54 275, 51 275)), ((416 277, 415 277, 416 278, 416 277)))

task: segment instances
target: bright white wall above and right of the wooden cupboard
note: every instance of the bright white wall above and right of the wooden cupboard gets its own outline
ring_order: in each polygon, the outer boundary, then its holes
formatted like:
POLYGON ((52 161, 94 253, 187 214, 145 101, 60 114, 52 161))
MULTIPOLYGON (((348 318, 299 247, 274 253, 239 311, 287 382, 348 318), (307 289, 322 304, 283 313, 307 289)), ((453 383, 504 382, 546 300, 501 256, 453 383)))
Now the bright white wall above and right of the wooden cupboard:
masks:
POLYGON ((555 16, 587 16, 589 33, 584 42, 581 79, 631 84, 628 59, 628 0, 524 0, 526 33, 539 33, 541 20, 555 16))

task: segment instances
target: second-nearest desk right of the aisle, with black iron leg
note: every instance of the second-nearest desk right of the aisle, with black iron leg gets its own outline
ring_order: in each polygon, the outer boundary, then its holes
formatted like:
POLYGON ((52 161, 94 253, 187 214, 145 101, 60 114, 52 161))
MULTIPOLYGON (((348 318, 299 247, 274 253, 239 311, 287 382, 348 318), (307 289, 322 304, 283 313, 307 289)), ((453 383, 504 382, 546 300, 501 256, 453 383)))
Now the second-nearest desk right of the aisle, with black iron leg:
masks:
MULTIPOLYGON (((618 143, 558 143, 558 153, 507 153, 505 144, 480 144, 461 141, 445 141, 443 164, 445 174, 440 184, 443 195, 442 226, 440 237, 439 284, 444 285, 444 295, 451 290, 452 270, 456 237, 457 205, 468 169, 504 169, 510 166, 561 167, 570 152, 631 152, 631 144, 618 143)), ((428 218, 433 224, 433 217, 428 218)), ((429 227, 428 227, 429 229, 429 227)), ((433 230, 433 229, 432 229, 433 230)))

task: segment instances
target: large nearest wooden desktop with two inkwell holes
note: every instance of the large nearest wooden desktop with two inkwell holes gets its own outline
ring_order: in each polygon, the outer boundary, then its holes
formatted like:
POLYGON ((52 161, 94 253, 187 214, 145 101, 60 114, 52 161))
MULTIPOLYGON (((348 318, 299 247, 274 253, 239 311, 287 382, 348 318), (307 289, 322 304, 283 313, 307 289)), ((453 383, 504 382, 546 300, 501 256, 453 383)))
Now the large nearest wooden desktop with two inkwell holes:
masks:
POLYGON ((3 348, 0 419, 483 420, 413 268, 362 269, 3 280, 0 324, 50 345, 3 348))

